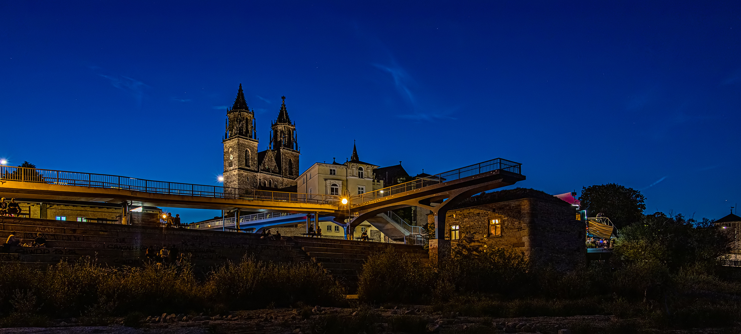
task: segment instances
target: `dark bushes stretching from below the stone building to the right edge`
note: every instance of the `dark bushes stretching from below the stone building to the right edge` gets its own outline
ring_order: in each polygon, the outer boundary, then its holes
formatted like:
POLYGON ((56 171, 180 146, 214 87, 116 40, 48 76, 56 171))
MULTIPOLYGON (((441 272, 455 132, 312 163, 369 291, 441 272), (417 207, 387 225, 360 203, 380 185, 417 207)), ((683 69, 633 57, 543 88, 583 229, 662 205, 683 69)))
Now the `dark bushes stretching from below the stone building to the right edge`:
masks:
POLYGON ((462 316, 615 315, 651 327, 728 326, 741 321, 741 282, 718 271, 730 245, 731 236, 707 219, 656 213, 621 230, 610 261, 557 272, 463 238, 440 267, 393 250, 373 256, 359 297, 462 316))

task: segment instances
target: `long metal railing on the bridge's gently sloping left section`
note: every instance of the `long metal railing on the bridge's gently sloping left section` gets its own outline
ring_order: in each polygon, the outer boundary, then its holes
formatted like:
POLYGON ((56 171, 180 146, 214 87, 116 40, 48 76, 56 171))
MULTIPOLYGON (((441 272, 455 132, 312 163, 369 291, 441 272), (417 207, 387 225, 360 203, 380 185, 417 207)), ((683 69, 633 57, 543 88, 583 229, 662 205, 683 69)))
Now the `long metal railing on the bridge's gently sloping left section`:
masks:
POLYGON ((265 191, 228 188, 220 185, 196 185, 122 177, 107 174, 53 171, 49 169, 0 166, 0 180, 56 185, 79 185, 94 188, 119 188, 155 194, 188 195, 198 197, 229 198, 237 200, 270 200, 277 202, 309 202, 339 204, 339 196, 300 194, 283 191, 265 191))

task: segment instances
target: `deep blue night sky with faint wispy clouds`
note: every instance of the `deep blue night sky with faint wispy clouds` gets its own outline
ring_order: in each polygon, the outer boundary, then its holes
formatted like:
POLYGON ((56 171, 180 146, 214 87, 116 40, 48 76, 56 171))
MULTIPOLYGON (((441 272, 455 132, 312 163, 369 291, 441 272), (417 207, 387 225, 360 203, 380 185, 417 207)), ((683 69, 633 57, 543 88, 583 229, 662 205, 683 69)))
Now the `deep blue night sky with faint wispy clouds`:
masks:
POLYGON ((503 157, 551 194, 741 202, 738 2, 522 2, 1 1, 0 156, 213 184, 242 83, 261 149, 287 97, 302 171, 354 139, 411 174, 503 157))

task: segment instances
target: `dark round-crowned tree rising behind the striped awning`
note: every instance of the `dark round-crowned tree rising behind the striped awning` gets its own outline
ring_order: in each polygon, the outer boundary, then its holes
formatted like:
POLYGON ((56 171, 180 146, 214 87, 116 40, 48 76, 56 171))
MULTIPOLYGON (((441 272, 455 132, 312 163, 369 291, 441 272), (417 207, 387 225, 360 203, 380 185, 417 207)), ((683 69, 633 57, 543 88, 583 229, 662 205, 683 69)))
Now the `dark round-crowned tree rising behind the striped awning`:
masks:
POLYGON ((645 197, 640 191, 616 183, 584 187, 579 200, 588 217, 602 213, 617 227, 639 222, 646 208, 645 197))

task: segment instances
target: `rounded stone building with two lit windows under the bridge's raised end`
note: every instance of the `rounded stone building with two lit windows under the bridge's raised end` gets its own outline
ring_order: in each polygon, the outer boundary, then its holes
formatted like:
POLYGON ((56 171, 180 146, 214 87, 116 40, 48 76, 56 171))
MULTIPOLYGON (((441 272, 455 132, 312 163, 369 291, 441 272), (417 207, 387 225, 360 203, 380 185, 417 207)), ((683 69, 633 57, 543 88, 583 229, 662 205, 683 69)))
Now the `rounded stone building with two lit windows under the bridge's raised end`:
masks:
POLYGON ((473 196, 445 217, 451 247, 463 239, 473 245, 512 248, 538 266, 570 269, 585 259, 585 227, 568 202, 527 188, 473 196))

